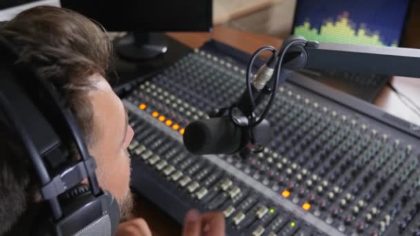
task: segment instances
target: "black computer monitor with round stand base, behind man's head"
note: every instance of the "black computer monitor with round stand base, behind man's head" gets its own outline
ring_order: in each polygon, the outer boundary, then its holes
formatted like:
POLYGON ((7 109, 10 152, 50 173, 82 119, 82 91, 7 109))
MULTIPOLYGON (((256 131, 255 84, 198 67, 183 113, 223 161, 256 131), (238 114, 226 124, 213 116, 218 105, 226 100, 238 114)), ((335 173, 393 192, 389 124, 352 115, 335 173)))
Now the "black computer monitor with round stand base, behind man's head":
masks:
POLYGON ((61 6, 95 19, 110 31, 129 31, 116 50, 125 59, 149 59, 166 52, 165 31, 209 31, 212 0, 61 0, 61 6))

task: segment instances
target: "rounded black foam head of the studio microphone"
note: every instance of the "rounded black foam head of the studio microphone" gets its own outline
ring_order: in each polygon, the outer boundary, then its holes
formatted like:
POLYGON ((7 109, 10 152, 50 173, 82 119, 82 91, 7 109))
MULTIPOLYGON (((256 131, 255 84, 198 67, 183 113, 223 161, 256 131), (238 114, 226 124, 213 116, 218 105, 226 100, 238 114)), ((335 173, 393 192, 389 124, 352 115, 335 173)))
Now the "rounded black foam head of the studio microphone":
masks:
POLYGON ((247 132, 229 117, 193 121, 185 128, 184 146, 195 155, 235 153, 246 144, 247 132))

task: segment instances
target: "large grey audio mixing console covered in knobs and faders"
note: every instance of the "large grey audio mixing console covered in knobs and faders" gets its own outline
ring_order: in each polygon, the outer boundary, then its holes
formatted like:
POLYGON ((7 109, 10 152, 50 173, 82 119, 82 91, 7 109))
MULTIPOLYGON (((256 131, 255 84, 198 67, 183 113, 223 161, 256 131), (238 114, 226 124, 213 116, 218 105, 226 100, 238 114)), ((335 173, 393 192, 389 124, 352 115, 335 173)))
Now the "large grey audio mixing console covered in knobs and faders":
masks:
POLYGON ((137 192, 147 195, 140 179, 147 173, 168 191, 168 202, 221 210, 229 235, 420 232, 419 137, 305 84, 280 86, 267 116, 274 139, 262 153, 245 161, 189 154, 185 126, 236 101, 243 70, 220 52, 195 50, 124 97, 135 130, 128 149, 137 192))

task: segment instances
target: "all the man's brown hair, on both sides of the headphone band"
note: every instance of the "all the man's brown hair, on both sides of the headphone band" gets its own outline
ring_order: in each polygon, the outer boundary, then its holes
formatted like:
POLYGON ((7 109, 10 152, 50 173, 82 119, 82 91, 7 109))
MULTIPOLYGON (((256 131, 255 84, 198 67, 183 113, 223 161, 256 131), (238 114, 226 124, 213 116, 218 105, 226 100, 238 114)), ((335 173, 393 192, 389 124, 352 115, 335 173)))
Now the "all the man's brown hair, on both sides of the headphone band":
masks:
MULTIPOLYGON (((106 77, 111 43, 93 21, 64 8, 42 6, 26 10, 0 24, 0 34, 19 50, 17 63, 29 63, 51 81, 68 101, 88 144, 93 142, 93 108, 87 98, 94 74, 106 77)), ((0 124, 1 130, 3 126, 0 124)), ((23 234, 36 185, 28 158, 19 141, 0 132, 0 235, 23 234), (15 148, 13 148, 15 147, 15 148), (12 231, 10 231, 12 229, 12 231), (19 233, 17 233, 19 232, 19 233)))

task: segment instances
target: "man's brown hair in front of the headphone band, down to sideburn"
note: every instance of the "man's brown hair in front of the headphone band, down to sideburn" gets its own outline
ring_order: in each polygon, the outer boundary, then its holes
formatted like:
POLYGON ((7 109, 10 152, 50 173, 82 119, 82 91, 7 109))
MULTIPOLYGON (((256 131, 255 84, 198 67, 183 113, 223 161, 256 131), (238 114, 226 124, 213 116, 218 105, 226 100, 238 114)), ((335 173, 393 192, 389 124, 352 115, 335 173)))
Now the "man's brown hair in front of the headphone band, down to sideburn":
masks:
POLYGON ((0 26, 20 51, 19 62, 35 66, 38 75, 50 80, 66 97, 88 143, 93 111, 87 78, 106 77, 111 64, 111 43, 106 33, 86 17, 65 8, 41 6, 21 12, 0 26))

